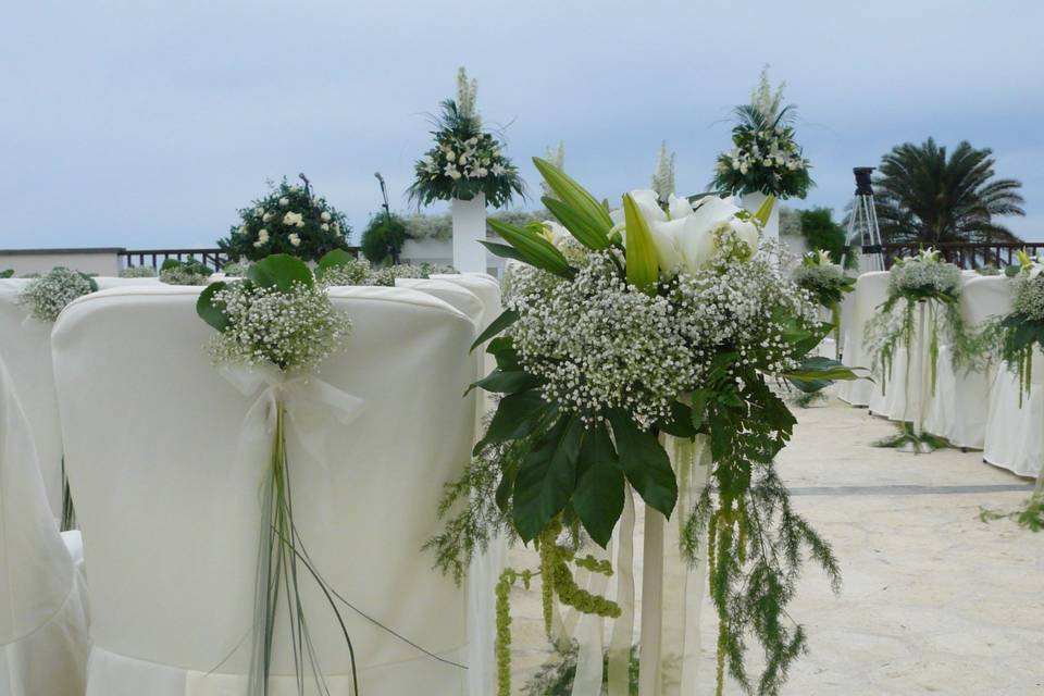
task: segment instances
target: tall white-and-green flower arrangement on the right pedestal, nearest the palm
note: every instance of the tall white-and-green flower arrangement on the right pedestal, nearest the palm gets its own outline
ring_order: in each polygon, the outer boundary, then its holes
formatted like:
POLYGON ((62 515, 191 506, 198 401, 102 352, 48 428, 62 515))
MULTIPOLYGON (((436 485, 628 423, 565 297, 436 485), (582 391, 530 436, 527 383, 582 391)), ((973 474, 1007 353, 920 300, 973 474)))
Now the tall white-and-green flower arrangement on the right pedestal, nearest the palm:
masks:
POLYGON ((805 198, 812 179, 794 140, 794 108, 783 105, 783 85, 773 92, 761 71, 750 103, 736 107, 732 150, 718 156, 712 186, 726 194, 805 198))

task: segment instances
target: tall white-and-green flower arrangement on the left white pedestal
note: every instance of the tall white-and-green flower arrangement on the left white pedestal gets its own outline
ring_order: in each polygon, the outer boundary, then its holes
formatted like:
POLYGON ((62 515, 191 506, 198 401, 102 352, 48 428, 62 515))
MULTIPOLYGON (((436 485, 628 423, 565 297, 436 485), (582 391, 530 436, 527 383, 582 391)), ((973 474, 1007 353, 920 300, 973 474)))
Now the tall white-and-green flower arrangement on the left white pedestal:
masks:
POLYGON ((486 202, 500 208, 514 195, 524 195, 519 171, 504 154, 504 145, 482 129, 475 107, 477 83, 464 69, 457 75, 457 100, 442 103, 435 119, 435 147, 414 165, 409 196, 420 206, 436 200, 471 200, 485 194, 486 202))

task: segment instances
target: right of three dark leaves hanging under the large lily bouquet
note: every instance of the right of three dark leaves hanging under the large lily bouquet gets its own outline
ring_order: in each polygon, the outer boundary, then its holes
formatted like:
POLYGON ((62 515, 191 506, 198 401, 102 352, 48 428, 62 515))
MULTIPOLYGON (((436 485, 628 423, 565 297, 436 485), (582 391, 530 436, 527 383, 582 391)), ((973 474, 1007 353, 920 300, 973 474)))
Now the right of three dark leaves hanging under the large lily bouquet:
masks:
POLYGON ((619 409, 609 411, 620 468, 645 502, 671 517, 678 502, 678 480, 671 460, 656 434, 643 431, 619 409))

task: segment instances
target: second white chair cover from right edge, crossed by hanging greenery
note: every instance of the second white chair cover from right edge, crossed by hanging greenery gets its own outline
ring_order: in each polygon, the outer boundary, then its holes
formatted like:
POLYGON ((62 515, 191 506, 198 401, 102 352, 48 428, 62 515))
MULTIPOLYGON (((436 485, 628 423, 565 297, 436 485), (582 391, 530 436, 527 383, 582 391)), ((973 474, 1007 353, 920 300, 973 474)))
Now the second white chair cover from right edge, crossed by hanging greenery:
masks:
MULTIPOLYGON (((1010 311, 1011 284, 1006 277, 977 274, 966 278, 960 313, 969 330, 1010 311)), ((996 376, 996 365, 983 371, 955 371, 952 356, 949 346, 940 347, 935 395, 928 407, 924 428, 945 437, 955 447, 982 449, 986 434, 983 405, 990 402, 990 386, 996 376)))

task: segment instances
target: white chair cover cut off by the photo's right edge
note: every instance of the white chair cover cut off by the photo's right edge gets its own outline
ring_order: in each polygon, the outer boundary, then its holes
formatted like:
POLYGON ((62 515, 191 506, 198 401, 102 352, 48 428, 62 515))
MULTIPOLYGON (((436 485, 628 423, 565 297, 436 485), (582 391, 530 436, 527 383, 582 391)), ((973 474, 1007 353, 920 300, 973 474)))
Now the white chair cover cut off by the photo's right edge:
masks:
POLYGON ((1044 355, 1033 355, 1032 388, 1019 407, 1018 375, 1005 365, 997 369, 986 414, 986 462, 1020 476, 1035 477, 1044 465, 1044 355))

